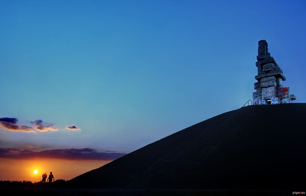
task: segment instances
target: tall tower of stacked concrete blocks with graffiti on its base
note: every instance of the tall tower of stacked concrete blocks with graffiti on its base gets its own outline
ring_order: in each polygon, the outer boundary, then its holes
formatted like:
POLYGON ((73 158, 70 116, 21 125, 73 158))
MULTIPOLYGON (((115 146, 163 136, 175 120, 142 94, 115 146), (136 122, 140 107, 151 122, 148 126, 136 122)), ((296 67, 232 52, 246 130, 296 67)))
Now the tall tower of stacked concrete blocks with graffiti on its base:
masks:
POLYGON ((258 42, 258 56, 256 62, 258 73, 254 83, 254 104, 280 104, 291 103, 296 100, 295 95, 289 95, 289 87, 283 87, 282 82, 286 80, 283 70, 278 66, 271 54, 268 52, 266 40, 258 42))

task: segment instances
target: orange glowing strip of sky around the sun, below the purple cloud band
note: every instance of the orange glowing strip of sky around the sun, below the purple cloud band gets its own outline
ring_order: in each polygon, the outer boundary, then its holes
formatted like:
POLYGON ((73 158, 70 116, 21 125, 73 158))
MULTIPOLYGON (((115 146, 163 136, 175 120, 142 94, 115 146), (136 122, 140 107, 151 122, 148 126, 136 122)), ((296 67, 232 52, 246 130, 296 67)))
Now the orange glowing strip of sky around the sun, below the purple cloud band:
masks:
POLYGON ((38 182, 41 181, 41 176, 45 172, 49 176, 50 171, 52 171, 55 180, 70 180, 109 162, 110 160, 16 160, 0 158, 0 180, 30 180, 32 182, 38 182), (37 174, 34 173, 35 170, 37 170, 37 174))

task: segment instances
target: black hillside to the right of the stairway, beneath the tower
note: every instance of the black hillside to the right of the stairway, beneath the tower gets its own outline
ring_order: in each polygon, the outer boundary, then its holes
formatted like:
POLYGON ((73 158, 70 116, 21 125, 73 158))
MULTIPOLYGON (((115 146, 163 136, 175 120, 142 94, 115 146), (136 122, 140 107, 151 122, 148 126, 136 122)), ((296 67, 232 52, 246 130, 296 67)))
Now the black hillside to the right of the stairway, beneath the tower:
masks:
POLYGON ((306 104, 247 107, 243 125, 208 156, 194 154, 151 187, 297 190, 305 187, 306 104), (202 160, 201 160, 202 158, 202 160))

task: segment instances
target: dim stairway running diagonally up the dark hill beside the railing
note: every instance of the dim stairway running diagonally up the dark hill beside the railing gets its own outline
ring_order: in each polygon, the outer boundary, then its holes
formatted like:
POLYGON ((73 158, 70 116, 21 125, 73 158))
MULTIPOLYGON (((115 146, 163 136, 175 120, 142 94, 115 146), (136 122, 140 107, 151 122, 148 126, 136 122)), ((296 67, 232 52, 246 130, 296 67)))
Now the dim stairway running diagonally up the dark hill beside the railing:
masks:
POLYGON ((157 160, 142 175, 133 176, 127 187, 168 187, 186 168, 197 167, 222 141, 241 129, 248 119, 248 107, 241 107, 216 129, 207 128, 193 141, 183 142, 157 160))

